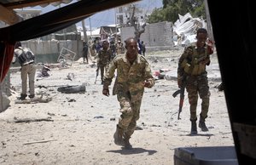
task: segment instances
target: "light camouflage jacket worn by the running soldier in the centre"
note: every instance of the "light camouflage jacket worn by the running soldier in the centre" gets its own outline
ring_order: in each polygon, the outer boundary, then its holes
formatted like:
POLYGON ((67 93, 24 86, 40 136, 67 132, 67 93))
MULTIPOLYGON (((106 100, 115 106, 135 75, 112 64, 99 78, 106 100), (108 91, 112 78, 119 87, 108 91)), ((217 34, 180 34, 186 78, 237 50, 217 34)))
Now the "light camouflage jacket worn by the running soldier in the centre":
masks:
MULTIPOLYGON (((140 54, 137 54, 137 59, 131 65, 126 58, 126 54, 116 56, 110 63, 108 71, 104 76, 103 88, 108 88, 114 77, 114 72, 117 70, 116 90, 124 90, 136 92, 143 91, 143 82, 146 80, 150 83, 148 88, 154 86, 154 77, 152 76, 148 61, 140 54)), ((115 90, 115 88, 113 88, 115 90)))

